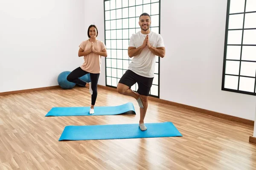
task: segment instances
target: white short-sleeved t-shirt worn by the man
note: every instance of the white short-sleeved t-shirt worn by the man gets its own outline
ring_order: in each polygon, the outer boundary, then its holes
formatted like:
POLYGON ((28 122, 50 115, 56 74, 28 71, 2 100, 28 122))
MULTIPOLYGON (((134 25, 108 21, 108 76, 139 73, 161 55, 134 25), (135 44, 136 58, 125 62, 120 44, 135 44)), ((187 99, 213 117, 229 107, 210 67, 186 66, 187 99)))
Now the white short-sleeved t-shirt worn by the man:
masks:
MULTIPOLYGON (((147 34, 142 34, 141 31, 132 34, 129 47, 140 47, 143 45, 146 36, 147 34)), ((152 47, 164 47, 163 38, 160 34, 150 31, 148 38, 152 47)), ((148 46, 146 46, 139 55, 133 57, 128 70, 131 70, 140 76, 152 78, 154 77, 156 59, 157 56, 148 49, 148 46)))

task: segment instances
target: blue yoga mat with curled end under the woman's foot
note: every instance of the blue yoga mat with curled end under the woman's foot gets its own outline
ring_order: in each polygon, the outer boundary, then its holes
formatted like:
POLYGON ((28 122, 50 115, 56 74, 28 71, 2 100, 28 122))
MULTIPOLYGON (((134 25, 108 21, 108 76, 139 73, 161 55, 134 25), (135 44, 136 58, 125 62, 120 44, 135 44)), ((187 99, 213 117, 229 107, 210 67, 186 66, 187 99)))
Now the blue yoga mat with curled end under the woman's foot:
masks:
POLYGON ((128 102, 119 106, 98 106, 94 107, 94 114, 89 114, 90 107, 55 107, 45 116, 99 116, 99 115, 117 115, 117 114, 136 114, 134 105, 128 102))

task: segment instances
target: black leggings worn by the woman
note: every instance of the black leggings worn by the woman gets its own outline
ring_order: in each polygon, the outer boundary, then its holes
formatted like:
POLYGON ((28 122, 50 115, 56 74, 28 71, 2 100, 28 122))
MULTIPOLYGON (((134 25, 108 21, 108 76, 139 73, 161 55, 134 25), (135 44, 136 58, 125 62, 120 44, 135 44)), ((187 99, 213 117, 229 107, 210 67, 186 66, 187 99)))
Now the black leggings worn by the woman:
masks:
MULTIPOLYGON (((80 67, 78 67, 67 76, 67 81, 76 83, 78 85, 85 86, 86 82, 79 79, 79 77, 82 77, 85 74, 88 74, 88 72, 84 71, 80 67)), ((92 90, 93 90, 91 105, 95 105, 97 94, 98 94, 97 85, 98 85, 98 80, 99 80, 99 73, 98 74, 90 73, 90 79, 91 79, 91 85, 92 85, 92 90)))

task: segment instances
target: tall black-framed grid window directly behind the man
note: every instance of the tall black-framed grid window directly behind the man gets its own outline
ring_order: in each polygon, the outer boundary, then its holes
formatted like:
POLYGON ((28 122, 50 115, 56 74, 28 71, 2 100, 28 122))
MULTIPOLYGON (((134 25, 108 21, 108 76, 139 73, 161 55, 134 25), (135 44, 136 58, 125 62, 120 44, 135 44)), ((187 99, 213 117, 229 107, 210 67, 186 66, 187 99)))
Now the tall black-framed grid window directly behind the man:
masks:
MULTIPOLYGON (((128 69, 128 45, 132 34, 140 31, 138 24, 143 12, 151 16, 150 30, 160 33, 160 0, 104 0, 105 44, 108 51, 106 63, 106 86, 116 88, 128 69)), ((160 59, 157 58, 150 96, 159 98, 160 59)), ((137 83, 131 87, 137 91, 137 83)))

